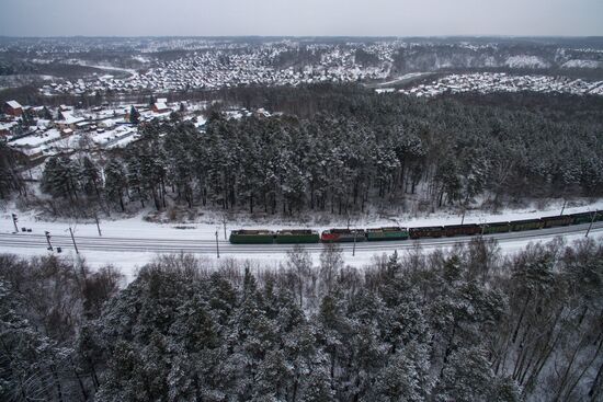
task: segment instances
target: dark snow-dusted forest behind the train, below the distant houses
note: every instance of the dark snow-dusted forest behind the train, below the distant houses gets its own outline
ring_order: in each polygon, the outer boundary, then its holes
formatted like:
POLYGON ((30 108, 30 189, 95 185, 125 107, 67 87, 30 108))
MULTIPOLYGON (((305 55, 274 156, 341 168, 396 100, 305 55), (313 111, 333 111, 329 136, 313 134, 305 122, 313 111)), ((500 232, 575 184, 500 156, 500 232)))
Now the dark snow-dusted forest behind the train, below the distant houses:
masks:
POLYGON ((174 114, 143 127, 140 140, 110 162, 86 152, 50 158, 43 189, 71 204, 92 197, 107 210, 175 203, 287 215, 398 207, 409 198, 433 210, 481 195, 498 207, 522 197, 602 194, 599 110, 561 122, 469 100, 312 91, 299 96, 330 107, 306 118, 229 119, 218 108, 200 131, 174 114))

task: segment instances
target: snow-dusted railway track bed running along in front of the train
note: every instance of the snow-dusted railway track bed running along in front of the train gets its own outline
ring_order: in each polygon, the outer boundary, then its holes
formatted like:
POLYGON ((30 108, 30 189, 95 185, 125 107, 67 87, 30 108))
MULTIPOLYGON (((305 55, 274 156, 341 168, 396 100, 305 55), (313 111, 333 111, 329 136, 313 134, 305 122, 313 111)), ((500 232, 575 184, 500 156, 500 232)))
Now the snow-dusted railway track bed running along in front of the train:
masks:
MULTIPOLYGON (((537 240, 550 240, 556 236, 577 236, 585 233, 589 225, 577 225, 551 229, 539 229, 524 232, 509 232, 489 234, 486 238, 493 238, 503 245, 504 243, 530 242, 537 240)), ((603 234, 603 222, 595 222, 591 234, 603 234)), ((451 246, 459 242, 468 242, 471 237, 455 237, 442 239, 422 239, 419 241, 380 241, 380 242, 357 242, 357 253, 384 253, 394 250, 403 250, 419 243, 426 249, 451 246)), ((73 250, 73 243, 69 234, 53 234, 53 246, 60 246, 64 250, 73 250)), ((215 239, 183 240, 183 239, 151 239, 151 238, 121 238, 121 237, 90 237, 76 236, 76 242, 80 252, 124 252, 124 253, 194 253, 215 254, 215 239)), ((19 249, 45 250, 47 246, 44 234, 33 233, 0 233, 0 251, 19 253, 19 249)), ((292 249, 289 244, 230 244, 227 241, 218 241, 220 255, 261 255, 284 254, 292 249)), ((318 253, 322 244, 306 244, 306 250, 318 253)), ((344 251, 352 251, 352 243, 342 243, 344 251)))

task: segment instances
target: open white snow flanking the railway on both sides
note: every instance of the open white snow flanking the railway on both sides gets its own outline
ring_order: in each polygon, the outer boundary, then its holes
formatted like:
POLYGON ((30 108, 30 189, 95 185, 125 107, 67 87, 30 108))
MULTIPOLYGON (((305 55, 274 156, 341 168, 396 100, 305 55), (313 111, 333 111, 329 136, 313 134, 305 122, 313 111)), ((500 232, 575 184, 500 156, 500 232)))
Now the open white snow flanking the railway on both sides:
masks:
MULTIPOLYGON (((490 214, 485 211, 468 211, 465 216, 466 223, 479 223, 486 221, 504 221, 515 219, 530 219, 538 218, 549 215, 558 215, 561 209, 561 202, 551 203, 545 210, 536 210, 534 208, 524 209, 510 209, 501 214, 490 214)), ((564 214, 572 214, 580 211, 591 211, 595 209, 603 209, 603 200, 599 200, 593 204, 588 204, 577 207, 567 207, 564 214)), ((11 214, 14 213, 14 208, 4 206, 0 214, 0 233, 14 232, 14 226, 11 219, 11 214)), ((98 229, 94 221, 76 221, 76 220, 56 220, 44 221, 37 219, 35 213, 26 211, 19 213, 19 228, 31 228, 33 234, 43 234, 44 231, 49 231, 52 236, 68 236, 69 227, 75 230, 76 239, 78 237, 98 237, 98 229)), ((169 240, 182 240, 182 241, 200 241, 205 244, 215 241, 215 233, 218 232, 219 243, 223 245, 223 256, 218 261, 215 253, 204 252, 201 254, 205 256, 208 264, 217 264, 224 262, 225 259, 230 255, 225 250, 228 244, 224 238, 224 225, 221 223, 220 214, 206 214, 195 222, 190 223, 155 223, 143 219, 144 214, 139 214, 133 218, 118 219, 118 220, 105 220, 100 223, 103 238, 117 238, 117 239, 169 239, 169 240)), ((418 226, 433 226, 433 225, 455 225, 460 223, 460 216, 451 216, 445 213, 434 214, 426 217, 405 218, 361 218, 351 222, 352 227, 367 228, 367 227, 380 227, 399 225, 405 227, 418 227, 418 226)), ((237 221, 227 221, 226 230, 227 234, 234 229, 258 229, 265 228, 271 230, 278 230, 285 228, 300 228, 307 227, 317 230, 325 230, 330 227, 345 227, 346 219, 341 219, 335 223, 328 226, 315 225, 315 222, 308 222, 306 225, 293 223, 281 220, 274 220, 269 223, 258 223, 251 219, 239 219, 237 221)), ((568 241, 573 241, 583 238, 584 233, 574 233, 566 237, 568 241)), ((603 238, 603 231, 598 230, 592 233, 593 238, 603 238)), ((515 252, 525 246, 530 240, 505 241, 501 243, 501 248, 504 252, 515 252)), ((543 238, 548 241, 550 237, 543 238)), ((434 248, 434 246, 429 246, 434 248)), ((395 248, 391 249, 391 251, 395 248)), ((38 249, 14 249, 0 245, 0 253, 16 253, 20 255, 43 255, 48 253, 44 246, 38 249)), ((76 257, 71 248, 64 250, 64 255, 72 255, 76 257)), ((158 254, 155 252, 148 252, 145 250, 137 252, 120 252, 120 251, 84 251, 81 254, 92 267, 100 267, 106 264, 113 264, 120 267, 128 279, 134 278, 136 269, 146 263, 152 261, 158 254)), ((315 263, 318 263, 319 250, 312 251, 312 259, 315 263)), ((238 260, 250 260, 257 264, 261 264, 264 268, 277 268, 278 264, 283 262, 285 257, 284 251, 275 249, 274 252, 268 253, 252 253, 237 254, 238 260)), ((375 257, 374 251, 356 250, 354 256, 352 256, 351 249, 344 249, 345 263, 356 267, 363 267, 368 265, 375 257)))

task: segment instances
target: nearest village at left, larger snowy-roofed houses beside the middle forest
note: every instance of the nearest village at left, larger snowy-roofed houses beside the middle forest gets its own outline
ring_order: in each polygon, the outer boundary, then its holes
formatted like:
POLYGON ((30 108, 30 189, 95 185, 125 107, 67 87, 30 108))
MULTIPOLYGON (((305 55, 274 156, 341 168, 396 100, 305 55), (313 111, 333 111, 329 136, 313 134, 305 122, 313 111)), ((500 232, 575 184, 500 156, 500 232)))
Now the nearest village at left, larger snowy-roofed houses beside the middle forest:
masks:
MULTIPOLYGON (((106 150, 123 148, 139 138, 139 128, 151 120, 167 120, 178 116, 191 120, 197 128, 205 124, 204 103, 168 102, 159 97, 152 104, 110 105, 76 110, 70 105, 58 107, 23 106, 16 101, 3 105, 0 114, 0 141, 24 154, 30 166, 47 157, 76 150, 106 150), (132 113, 136 113, 136 123, 132 113)), ((247 111, 231 111, 242 115, 247 111)))

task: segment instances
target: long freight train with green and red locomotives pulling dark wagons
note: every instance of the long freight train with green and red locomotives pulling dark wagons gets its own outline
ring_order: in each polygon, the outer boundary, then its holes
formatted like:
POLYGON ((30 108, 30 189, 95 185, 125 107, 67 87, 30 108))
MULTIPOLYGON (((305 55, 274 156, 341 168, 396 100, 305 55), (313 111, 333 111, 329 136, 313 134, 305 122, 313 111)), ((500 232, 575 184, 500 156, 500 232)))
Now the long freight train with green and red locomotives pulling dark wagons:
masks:
POLYGON ((571 215, 549 216, 538 219, 511 220, 490 223, 430 226, 419 228, 386 227, 375 229, 329 229, 318 233, 311 229, 294 230, 232 230, 232 244, 300 244, 386 241, 407 239, 435 239, 455 236, 493 234, 582 225, 603 221, 603 210, 571 215))

